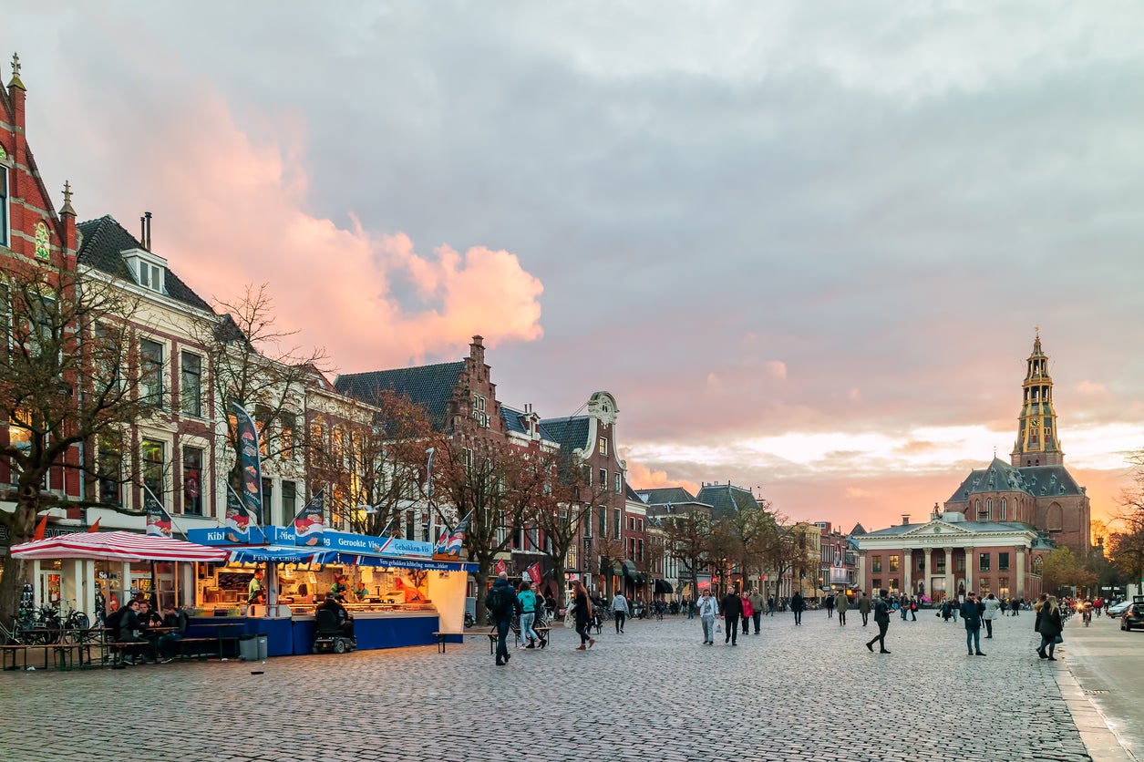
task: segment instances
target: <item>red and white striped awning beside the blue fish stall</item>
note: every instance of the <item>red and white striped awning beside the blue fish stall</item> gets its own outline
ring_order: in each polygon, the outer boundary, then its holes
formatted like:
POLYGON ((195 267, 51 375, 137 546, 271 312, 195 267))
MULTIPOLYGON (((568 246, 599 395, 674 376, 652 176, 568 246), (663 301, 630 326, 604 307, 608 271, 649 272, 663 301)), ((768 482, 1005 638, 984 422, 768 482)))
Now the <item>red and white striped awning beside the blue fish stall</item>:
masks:
POLYGON ((76 532, 11 547, 13 558, 227 561, 224 548, 136 532, 76 532))

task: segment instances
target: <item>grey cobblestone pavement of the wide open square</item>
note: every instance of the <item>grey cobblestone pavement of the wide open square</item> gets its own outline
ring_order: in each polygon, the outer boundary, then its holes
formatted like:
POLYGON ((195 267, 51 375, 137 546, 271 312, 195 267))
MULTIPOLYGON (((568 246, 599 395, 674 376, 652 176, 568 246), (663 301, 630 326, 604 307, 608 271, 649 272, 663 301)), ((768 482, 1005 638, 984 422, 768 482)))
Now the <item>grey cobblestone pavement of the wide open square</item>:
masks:
POLYGON ((999 620, 986 657, 932 612, 891 619, 891 654, 866 650, 873 620, 848 620, 764 617, 737 648, 682 617, 605 622, 585 652, 557 627, 506 667, 479 636, 444 654, 3 673, 0 759, 1089 759, 1057 684, 1067 651, 1038 659, 1032 616, 999 620))

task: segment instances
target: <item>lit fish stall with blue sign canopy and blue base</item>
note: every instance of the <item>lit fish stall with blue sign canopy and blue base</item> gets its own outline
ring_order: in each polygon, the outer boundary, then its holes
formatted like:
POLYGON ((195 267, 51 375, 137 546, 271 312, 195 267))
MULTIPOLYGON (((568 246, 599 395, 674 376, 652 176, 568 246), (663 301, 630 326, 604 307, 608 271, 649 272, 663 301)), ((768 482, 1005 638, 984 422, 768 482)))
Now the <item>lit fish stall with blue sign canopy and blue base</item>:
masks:
MULTIPOLYGON (((267 635, 269 656, 310 653, 315 608, 335 585, 353 616, 358 650, 429 645, 437 630, 460 632, 472 564, 435 561, 432 545, 325 531, 321 546, 299 546, 293 527, 265 526, 261 545, 236 545, 221 530, 191 530, 227 547, 225 564, 200 564, 192 632, 267 635), (247 605, 256 569, 267 605, 247 605)), ((253 539, 253 538, 252 538, 253 539)))

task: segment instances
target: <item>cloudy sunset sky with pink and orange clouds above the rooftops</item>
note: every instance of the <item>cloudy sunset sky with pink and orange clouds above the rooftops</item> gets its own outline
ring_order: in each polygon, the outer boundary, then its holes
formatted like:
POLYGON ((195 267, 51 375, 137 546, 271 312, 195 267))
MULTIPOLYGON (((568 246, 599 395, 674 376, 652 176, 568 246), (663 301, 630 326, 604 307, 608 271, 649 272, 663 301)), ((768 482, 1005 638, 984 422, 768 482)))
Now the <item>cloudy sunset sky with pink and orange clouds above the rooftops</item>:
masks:
MULTIPOLYGON (((335 371, 620 406, 636 487, 924 517, 1008 461, 1040 326, 1094 514, 1144 447, 1131 2, 24 3, 27 135, 335 371)), ((5 70, 5 81, 8 79, 5 70)), ((56 199, 59 203, 58 193, 56 199)))

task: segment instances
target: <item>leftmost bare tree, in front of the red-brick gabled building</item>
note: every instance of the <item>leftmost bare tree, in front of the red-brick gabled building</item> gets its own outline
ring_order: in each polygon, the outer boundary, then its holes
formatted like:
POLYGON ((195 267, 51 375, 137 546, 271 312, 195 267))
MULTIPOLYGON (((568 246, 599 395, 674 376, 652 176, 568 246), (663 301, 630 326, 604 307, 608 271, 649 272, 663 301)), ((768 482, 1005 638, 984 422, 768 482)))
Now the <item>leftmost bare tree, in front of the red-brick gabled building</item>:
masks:
MULTIPOLYGON (((132 320, 140 301, 103 277, 70 269, 21 268, 11 263, 0 279, 3 357, 0 362, 0 413, 8 427, 0 459, 9 467, 15 502, 0 511, 0 524, 13 545, 31 539, 40 511, 56 506, 93 506, 97 500, 69 500, 49 493, 46 482, 67 471, 95 478, 111 474, 86 447, 116 438, 122 429, 149 416, 154 368, 141 362, 132 320)), ((96 490, 90 493, 98 497, 96 490)), ((101 505, 113 510, 118 506, 101 505)), ((129 511, 124 511, 129 513, 129 511)), ((6 555, 0 574, 0 620, 11 621, 23 562, 6 555)))

